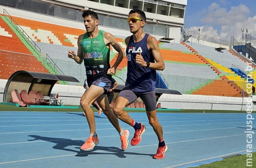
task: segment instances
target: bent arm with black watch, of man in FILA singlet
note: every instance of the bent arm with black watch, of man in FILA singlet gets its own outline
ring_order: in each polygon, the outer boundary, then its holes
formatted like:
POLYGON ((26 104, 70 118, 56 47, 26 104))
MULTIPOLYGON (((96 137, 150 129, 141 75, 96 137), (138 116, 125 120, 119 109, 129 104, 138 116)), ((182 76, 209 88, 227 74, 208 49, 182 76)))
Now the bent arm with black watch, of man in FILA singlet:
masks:
MULTIPOLYGON (((156 38, 149 35, 147 45, 155 59, 155 62, 150 62, 149 68, 154 70, 164 70, 165 65, 156 38)), ((146 61, 144 61, 143 57, 141 56, 141 53, 136 54, 136 62, 141 66, 147 66, 146 61)))

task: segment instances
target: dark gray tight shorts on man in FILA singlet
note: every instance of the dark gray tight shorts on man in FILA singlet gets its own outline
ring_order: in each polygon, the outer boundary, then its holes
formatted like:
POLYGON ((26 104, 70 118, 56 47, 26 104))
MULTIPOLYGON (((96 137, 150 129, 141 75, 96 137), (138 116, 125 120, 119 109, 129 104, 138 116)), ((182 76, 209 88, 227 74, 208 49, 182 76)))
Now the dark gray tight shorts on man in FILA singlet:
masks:
POLYGON ((132 104, 138 97, 140 97, 146 106, 147 111, 156 110, 156 93, 155 90, 149 92, 135 92, 128 87, 124 87, 117 97, 126 98, 132 104))

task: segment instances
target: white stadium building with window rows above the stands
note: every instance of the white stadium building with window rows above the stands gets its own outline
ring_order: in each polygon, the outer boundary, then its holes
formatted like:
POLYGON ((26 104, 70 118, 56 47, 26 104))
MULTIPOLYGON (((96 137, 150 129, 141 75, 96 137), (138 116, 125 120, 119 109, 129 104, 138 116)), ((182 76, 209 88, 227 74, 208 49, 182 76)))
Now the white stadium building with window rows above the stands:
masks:
POLYGON ((120 36, 130 34, 128 13, 139 8, 147 16, 146 33, 158 40, 166 37, 179 42, 187 0, 2 0, 0 5, 80 22, 84 10, 93 10, 99 15, 100 26, 105 27, 101 29, 120 36))

